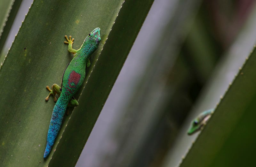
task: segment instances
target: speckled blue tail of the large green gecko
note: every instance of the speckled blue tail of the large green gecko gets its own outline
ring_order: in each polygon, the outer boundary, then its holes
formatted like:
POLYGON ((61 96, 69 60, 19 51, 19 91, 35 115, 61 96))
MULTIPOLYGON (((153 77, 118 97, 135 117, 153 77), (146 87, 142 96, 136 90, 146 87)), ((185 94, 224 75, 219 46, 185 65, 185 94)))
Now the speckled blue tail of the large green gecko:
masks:
MULTIPOLYGON (((59 98, 60 99, 60 98, 59 98)), ((48 135, 47 135, 47 144, 44 151, 44 158, 46 158, 52 149, 56 136, 59 133, 60 125, 65 114, 67 106, 60 105, 59 99, 56 102, 53 111, 52 111, 52 118, 49 125, 48 135), (63 106, 63 107, 60 107, 63 106)))

